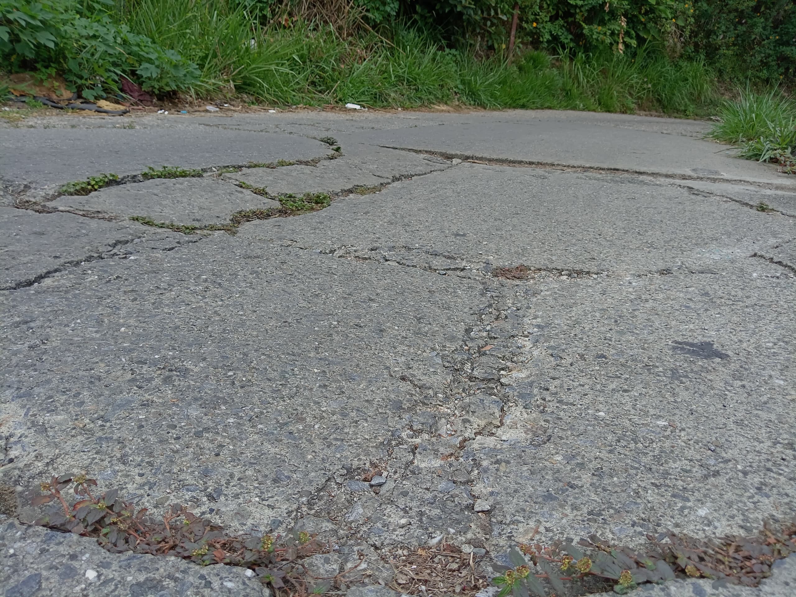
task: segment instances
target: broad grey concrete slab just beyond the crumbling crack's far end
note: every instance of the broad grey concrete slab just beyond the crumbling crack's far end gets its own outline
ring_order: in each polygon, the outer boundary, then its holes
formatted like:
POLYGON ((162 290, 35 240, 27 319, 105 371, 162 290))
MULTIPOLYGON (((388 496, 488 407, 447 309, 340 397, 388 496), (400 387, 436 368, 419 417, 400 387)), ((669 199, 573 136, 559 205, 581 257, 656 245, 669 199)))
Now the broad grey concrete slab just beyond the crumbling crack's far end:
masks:
POLYGON ((436 269, 524 263, 638 275, 721 268, 794 238, 796 225, 667 181, 462 164, 240 234, 371 256, 408 252, 436 269))

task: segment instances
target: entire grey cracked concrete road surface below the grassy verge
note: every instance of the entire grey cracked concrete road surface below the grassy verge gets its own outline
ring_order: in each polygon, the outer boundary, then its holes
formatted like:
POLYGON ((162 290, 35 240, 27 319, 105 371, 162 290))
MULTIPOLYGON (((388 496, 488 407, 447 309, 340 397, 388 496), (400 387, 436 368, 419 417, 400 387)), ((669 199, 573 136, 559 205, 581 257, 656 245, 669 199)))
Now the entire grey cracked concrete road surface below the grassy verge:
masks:
MULTIPOLYGON (((796 513, 796 181, 705 141, 704 123, 27 123, 0 131, 6 595, 266 593, 20 526, 38 482, 73 470, 235 532, 319 533, 339 546, 333 574, 358 549, 350 595, 393 595, 388 561, 440 536, 502 561, 537 528, 639 547, 796 513), (299 163, 262 166, 280 159, 299 163), (163 165, 205 176, 138 176, 163 165), (58 196, 108 172, 123 184, 58 196), (277 205, 240 181, 333 201, 234 235, 130 220, 277 205), (383 484, 362 481, 374 470, 383 484)), ((789 595, 794 566, 709 594, 789 595)))

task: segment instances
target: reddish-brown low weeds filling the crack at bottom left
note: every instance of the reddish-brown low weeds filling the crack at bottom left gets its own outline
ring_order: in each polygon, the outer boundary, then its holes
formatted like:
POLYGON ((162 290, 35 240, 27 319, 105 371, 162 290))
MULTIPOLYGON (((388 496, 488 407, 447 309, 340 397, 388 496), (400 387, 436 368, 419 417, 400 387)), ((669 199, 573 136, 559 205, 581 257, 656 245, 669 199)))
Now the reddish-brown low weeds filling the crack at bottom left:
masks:
POLYGON ((306 577, 299 559, 326 549, 314 536, 292 531, 287 536, 236 537, 213 522, 197 517, 183 505, 171 505, 160 519, 147 516, 146 508, 119 497, 119 490, 92 494, 94 479, 85 474, 64 474, 41 483, 42 495, 33 505, 59 501, 61 512, 45 514, 35 524, 93 537, 109 552, 177 556, 201 566, 227 564, 248 568, 261 583, 286 589, 291 595, 318 595, 331 583, 306 577), (79 499, 70 505, 61 492, 71 488, 79 499))

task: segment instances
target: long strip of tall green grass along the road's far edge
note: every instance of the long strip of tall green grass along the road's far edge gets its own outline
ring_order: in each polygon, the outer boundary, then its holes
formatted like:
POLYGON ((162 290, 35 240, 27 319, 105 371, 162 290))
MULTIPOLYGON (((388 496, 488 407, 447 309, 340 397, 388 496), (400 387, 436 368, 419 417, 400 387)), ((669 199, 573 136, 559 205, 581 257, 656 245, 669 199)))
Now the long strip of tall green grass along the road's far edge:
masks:
MULTIPOLYGON (((372 32, 342 38, 330 26, 252 27, 246 2, 138 0, 119 14, 136 33, 198 64, 197 96, 243 93, 260 103, 423 107, 568 108, 693 115, 712 101, 700 60, 672 61, 652 49, 622 55, 531 52, 513 65, 400 25, 390 41, 372 32)), ((334 145, 330 143, 330 145, 334 145)))

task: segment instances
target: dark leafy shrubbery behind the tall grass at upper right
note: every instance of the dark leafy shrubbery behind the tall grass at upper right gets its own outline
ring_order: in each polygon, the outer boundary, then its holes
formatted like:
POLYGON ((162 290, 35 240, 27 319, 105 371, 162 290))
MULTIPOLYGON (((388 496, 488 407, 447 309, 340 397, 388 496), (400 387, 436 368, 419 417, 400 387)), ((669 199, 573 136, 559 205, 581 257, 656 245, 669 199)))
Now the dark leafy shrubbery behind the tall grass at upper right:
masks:
MULTIPOLYGON (((264 0, 267 1, 267 0, 264 0)), ((403 14, 448 40, 500 52, 514 0, 358 0, 372 21, 403 14)), ((721 75, 796 80, 793 0, 519 0, 517 41, 559 51, 617 51, 657 41, 670 55, 704 57, 721 75)))

